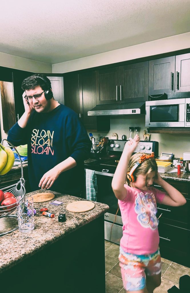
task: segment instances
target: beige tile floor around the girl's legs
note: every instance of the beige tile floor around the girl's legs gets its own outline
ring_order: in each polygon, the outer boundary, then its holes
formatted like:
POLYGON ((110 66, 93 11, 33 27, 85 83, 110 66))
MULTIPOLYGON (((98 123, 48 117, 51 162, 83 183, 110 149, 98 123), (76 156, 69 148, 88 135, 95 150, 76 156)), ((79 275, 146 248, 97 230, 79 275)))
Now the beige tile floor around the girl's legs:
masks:
MULTIPOLYGON (((106 293, 126 293, 121 279, 118 255, 119 245, 105 240, 106 293)), ((174 285, 179 288, 179 278, 183 275, 190 276, 190 268, 162 258, 162 283, 154 293, 167 293, 174 285)))

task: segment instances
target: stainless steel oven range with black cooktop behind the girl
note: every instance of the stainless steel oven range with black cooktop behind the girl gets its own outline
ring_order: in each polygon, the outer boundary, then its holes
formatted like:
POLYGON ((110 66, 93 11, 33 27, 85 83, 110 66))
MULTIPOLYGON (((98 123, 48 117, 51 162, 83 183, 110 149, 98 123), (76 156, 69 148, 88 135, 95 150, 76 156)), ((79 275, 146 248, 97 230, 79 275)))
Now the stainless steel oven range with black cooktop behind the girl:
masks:
MULTIPOLYGON (((94 170, 96 174, 97 202, 102 202, 109 206, 109 211, 104 215, 105 239, 118 244, 120 243, 120 239, 122 237, 123 223, 121 220, 120 210, 117 212, 118 200, 112 190, 112 178, 125 143, 126 142, 123 140, 109 140, 107 158, 102 156, 97 161, 85 163, 85 169, 94 170), (116 212, 117 216, 115 216, 116 212)), ((158 156, 158 142, 140 141, 135 149, 135 153, 139 151, 147 154, 154 151, 155 156, 158 156)))

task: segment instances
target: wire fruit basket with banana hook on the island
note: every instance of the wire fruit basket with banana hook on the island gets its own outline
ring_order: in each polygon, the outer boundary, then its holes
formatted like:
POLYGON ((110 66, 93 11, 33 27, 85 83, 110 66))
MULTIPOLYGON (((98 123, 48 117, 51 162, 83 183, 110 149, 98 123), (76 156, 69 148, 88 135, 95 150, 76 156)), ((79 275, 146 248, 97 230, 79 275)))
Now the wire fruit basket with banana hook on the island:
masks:
MULTIPOLYGON (((11 144, 10 142, 8 142, 7 139, 3 139, 1 141, 1 144, 3 145, 3 142, 6 141, 11 147, 13 147, 15 149, 15 151, 17 152, 17 155, 20 159, 20 164, 21 164, 21 178, 20 180, 13 184, 13 185, 10 185, 10 186, 6 186, 4 188, 1 188, 1 190, 5 193, 5 192, 10 192, 12 193, 15 198, 16 198, 16 202, 14 202, 13 204, 11 205, 6 205, 6 206, 0 206, 0 219, 2 217, 18 217, 17 216, 17 212, 15 214, 11 214, 13 211, 16 210, 18 204, 20 202, 23 201, 24 197, 25 197, 25 194, 26 194, 26 190, 25 190, 25 180, 23 178, 23 165, 22 165, 22 160, 20 158, 20 154, 18 153, 17 149, 13 146, 13 144, 11 144)), ((0 233, 0 236, 3 236, 5 234, 8 234, 14 230, 18 229, 18 226, 10 231, 7 231, 7 232, 4 232, 4 233, 0 233)))

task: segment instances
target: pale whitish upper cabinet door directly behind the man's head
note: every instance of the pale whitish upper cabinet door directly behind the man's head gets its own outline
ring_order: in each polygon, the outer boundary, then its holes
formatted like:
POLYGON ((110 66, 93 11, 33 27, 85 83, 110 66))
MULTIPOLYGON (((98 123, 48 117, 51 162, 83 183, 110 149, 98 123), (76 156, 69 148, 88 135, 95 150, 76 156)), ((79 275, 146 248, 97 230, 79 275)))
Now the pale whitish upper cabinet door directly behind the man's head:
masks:
POLYGON ((63 76, 47 76, 51 81, 54 99, 64 104, 63 76))

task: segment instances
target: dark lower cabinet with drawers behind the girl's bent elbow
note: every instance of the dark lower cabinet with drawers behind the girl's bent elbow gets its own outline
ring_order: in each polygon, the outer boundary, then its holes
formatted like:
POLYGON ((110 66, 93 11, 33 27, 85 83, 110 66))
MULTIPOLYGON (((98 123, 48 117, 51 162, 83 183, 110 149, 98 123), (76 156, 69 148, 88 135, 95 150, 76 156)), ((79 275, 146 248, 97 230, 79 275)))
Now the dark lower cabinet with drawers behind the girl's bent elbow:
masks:
MULTIPOLYGON (((190 184, 166 180, 186 198, 186 204, 171 207, 157 204, 159 219, 160 254, 163 258, 190 267, 190 184)), ((161 187, 155 186, 162 190, 161 187)))

